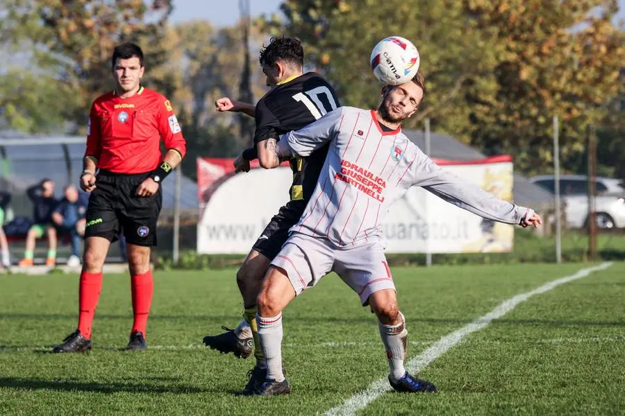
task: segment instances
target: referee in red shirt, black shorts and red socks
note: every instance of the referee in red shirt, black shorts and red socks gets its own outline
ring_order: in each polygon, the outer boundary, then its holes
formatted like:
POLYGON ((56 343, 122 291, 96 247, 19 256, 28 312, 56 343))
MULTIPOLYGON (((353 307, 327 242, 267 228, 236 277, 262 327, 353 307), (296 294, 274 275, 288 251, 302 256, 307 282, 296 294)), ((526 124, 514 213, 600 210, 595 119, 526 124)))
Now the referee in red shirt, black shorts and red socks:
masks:
POLYGON ((78 328, 53 352, 91 349, 91 329, 110 243, 126 237, 134 322, 126 349, 146 349, 154 281, 150 247, 163 202, 160 182, 181 162, 186 144, 169 100, 144 88, 143 52, 125 43, 111 60, 115 90, 92 104, 81 188, 90 192, 78 296, 78 328), (162 157, 160 139, 167 153, 162 157), (96 174, 96 170, 98 170, 96 174))

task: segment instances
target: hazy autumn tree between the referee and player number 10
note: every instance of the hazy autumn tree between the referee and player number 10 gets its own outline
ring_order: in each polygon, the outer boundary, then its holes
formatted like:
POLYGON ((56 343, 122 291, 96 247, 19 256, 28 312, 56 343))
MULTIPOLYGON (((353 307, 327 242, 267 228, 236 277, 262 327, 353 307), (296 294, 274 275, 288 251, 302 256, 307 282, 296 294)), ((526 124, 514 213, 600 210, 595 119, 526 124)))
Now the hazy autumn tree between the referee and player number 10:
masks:
MULTIPOLYGON (((186 175, 195 176, 197 157, 234 157, 249 146, 250 135, 242 135, 237 114, 217 113, 215 100, 221 96, 240 99, 242 23, 215 28, 208 21, 190 21, 167 31, 164 47, 170 51, 166 62, 152 71, 153 82, 169 88, 169 97, 178 113, 188 144, 183 161, 186 175)), ((251 101, 265 94, 265 79, 258 64, 258 51, 265 36, 258 26, 249 33, 251 101)), ((249 128, 253 130, 253 120, 249 128)))

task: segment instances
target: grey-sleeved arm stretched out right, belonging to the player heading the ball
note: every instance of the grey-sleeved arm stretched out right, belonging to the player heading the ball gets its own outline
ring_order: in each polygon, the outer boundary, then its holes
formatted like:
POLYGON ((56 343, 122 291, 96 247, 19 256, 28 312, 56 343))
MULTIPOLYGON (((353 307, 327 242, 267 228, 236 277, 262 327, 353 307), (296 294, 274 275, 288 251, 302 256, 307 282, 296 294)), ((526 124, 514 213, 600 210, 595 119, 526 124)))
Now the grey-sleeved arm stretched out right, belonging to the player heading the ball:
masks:
POLYGON ((523 227, 528 225, 537 227, 542 224, 542 218, 533 209, 500 200, 476 184, 440 168, 423 153, 417 156, 417 161, 419 163, 412 168, 412 174, 415 175, 414 184, 435 196, 482 218, 499 223, 523 227))

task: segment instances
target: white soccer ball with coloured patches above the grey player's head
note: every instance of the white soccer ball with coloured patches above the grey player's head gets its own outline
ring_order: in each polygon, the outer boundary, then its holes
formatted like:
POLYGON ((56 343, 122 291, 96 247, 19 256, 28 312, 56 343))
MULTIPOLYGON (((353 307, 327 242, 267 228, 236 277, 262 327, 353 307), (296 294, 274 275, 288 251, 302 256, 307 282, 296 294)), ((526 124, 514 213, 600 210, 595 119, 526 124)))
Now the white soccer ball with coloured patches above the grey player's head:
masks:
POLYGON ((387 37, 371 53, 371 69, 378 80, 386 85, 407 83, 419 71, 419 51, 409 40, 387 37))

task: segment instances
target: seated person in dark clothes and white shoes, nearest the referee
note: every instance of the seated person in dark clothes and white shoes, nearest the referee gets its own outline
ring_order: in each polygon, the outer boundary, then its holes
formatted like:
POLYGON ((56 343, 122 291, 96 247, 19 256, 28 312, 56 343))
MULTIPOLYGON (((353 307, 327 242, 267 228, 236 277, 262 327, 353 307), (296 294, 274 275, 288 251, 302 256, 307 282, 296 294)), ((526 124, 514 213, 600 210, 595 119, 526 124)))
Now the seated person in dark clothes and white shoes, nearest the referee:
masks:
POLYGON ((69 235, 72 244, 72 256, 67 259, 67 266, 78 266, 81 263, 81 240, 85 235, 85 200, 78 198, 78 188, 67 185, 63 190, 65 198, 60 200, 52 213, 52 222, 56 226, 58 236, 69 235))

